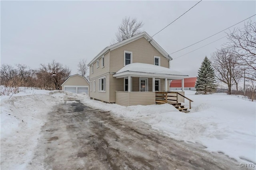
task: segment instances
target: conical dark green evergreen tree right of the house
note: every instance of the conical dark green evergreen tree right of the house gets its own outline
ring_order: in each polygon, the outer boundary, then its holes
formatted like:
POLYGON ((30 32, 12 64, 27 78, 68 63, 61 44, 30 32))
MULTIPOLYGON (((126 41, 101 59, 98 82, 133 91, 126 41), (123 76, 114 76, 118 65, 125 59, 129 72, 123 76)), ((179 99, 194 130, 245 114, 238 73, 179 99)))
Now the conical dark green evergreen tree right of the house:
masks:
POLYGON ((198 76, 196 80, 196 91, 199 93, 204 92, 215 92, 216 90, 216 81, 214 78, 214 69, 210 60, 205 56, 204 61, 202 62, 201 67, 198 70, 198 76))

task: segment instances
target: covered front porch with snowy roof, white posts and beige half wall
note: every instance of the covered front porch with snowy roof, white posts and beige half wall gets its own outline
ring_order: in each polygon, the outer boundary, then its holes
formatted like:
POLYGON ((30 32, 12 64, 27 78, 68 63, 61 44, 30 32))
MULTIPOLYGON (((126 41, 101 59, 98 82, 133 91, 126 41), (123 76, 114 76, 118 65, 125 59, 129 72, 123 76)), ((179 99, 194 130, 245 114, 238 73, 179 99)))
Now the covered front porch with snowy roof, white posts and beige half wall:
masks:
POLYGON ((156 92, 168 92, 170 80, 182 80, 180 93, 184 95, 184 78, 188 75, 152 64, 133 63, 113 74, 113 77, 122 78, 124 82, 124 90, 115 92, 115 103, 132 106, 156 104, 156 92))

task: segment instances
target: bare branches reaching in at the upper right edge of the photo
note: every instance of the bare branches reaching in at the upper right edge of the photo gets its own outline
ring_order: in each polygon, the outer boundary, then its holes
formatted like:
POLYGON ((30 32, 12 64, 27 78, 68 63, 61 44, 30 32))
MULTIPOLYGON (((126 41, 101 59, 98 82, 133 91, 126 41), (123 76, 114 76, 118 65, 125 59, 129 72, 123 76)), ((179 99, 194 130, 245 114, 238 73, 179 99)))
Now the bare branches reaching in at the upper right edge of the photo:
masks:
POLYGON ((246 70, 247 79, 256 80, 256 23, 248 21, 243 29, 228 34, 226 46, 238 56, 238 63, 246 70))

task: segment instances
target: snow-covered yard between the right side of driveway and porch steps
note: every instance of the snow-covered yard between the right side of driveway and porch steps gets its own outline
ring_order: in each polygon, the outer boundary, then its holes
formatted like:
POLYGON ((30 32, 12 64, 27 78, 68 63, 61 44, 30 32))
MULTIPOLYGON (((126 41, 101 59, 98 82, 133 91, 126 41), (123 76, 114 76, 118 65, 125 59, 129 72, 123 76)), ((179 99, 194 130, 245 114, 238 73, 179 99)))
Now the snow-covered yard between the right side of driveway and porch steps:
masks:
MULTIPOLYGON (((209 152, 220 152, 238 161, 256 162, 256 104, 223 93, 195 95, 190 113, 181 113, 169 104, 120 106, 84 99, 91 107, 112 111, 133 121, 143 121, 166 135, 195 143, 209 152)), ((189 102, 186 101, 186 107, 189 102)))

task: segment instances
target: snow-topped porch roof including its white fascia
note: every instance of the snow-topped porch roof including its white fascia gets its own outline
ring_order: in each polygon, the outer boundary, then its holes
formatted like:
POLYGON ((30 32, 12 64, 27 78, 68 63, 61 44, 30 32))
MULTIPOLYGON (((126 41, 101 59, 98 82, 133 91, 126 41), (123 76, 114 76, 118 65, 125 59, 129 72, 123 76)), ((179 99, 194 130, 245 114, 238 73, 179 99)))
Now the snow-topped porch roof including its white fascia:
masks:
POLYGON ((168 78, 171 80, 188 77, 188 75, 182 74, 178 71, 172 71, 170 68, 145 63, 128 64, 113 75, 113 77, 116 78, 124 78, 127 76, 145 78, 168 78))

